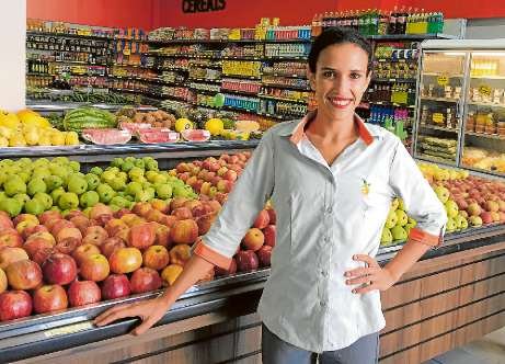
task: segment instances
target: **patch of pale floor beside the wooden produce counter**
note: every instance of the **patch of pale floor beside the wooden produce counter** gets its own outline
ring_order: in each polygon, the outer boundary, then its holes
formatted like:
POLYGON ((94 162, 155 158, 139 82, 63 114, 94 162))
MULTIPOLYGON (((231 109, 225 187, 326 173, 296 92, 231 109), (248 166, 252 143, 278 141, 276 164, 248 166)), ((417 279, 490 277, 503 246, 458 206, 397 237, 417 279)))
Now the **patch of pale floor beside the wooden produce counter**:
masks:
POLYGON ((424 364, 505 364, 505 328, 424 364))

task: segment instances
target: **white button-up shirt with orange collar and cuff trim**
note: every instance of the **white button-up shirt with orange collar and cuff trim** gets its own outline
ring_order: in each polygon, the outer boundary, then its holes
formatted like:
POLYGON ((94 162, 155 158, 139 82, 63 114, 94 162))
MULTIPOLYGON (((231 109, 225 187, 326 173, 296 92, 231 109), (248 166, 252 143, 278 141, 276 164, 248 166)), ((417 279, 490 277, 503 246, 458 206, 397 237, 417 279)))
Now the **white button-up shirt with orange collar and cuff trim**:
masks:
POLYGON ((264 135, 194 252, 227 266, 272 198, 277 240, 259 314, 284 341, 323 352, 385 327, 379 292, 353 294, 344 272, 363 264, 354 254, 377 254, 392 198, 403 198, 417 220, 414 240, 436 243, 447 217, 393 134, 356 116, 360 137, 329 166, 303 133, 309 117, 264 135))

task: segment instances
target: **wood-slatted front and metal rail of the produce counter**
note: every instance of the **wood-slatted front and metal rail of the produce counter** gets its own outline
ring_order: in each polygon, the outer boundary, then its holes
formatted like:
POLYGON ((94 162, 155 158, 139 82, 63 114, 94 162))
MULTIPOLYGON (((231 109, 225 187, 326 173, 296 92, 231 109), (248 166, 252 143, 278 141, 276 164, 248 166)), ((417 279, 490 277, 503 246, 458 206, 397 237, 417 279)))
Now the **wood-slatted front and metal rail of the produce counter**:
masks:
MULTIPOLYGON (((386 264, 400 247, 379 250, 386 264)), ((202 283, 158 326, 134 338, 136 319, 95 328, 106 308, 137 295, 0 325, 0 362, 257 363, 261 322, 254 314, 269 270, 202 283)), ((505 226, 446 236, 382 294, 387 327, 381 363, 422 363, 505 326, 505 226)))

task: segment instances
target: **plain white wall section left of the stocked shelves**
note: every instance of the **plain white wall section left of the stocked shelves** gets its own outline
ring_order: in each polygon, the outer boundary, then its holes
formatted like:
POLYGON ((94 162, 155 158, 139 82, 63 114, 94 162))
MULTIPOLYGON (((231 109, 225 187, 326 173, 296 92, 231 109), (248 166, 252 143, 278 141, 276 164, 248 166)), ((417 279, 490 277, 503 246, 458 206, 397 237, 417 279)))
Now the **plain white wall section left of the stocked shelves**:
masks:
POLYGON ((26 0, 0 0, 0 110, 25 107, 26 0))

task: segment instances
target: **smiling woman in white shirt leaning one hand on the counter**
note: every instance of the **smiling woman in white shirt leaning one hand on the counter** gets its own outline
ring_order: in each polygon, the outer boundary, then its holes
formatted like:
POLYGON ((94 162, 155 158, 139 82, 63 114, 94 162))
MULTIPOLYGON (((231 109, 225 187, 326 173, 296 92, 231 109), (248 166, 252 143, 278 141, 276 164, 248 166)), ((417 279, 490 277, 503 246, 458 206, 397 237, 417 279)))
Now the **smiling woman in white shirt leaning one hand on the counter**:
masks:
POLYGON ((102 326, 138 316, 154 325, 214 265, 227 268, 265 202, 277 212, 277 243, 259 314, 263 363, 378 361, 385 327, 380 291, 392 286, 446 224, 444 206, 400 139, 355 115, 371 77, 371 47, 347 29, 324 31, 309 55, 318 110, 268 130, 193 258, 160 297, 114 307, 102 326), (385 268, 374 257, 394 196, 417 226, 385 268))

